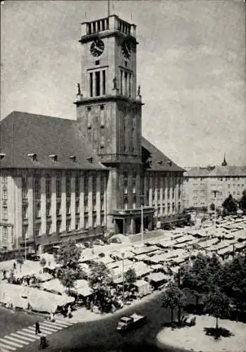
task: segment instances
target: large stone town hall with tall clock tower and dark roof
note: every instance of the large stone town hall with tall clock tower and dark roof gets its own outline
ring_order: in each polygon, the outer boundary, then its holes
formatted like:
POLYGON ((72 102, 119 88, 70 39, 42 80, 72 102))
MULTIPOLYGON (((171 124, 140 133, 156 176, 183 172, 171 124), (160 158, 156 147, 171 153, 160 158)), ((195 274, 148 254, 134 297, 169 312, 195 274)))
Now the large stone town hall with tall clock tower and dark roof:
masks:
POLYGON ((135 25, 82 23, 77 120, 1 121, 0 247, 152 230, 180 213, 183 169, 142 137, 135 25))

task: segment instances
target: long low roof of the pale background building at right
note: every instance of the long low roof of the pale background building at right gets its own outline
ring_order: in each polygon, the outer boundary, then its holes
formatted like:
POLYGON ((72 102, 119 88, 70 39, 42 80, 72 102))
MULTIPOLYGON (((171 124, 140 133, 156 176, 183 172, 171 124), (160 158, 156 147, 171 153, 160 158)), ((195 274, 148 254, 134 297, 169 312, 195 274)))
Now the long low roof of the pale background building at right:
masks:
POLYGON ((246 176, 246 166, 207 166, 207 168, 190 168, 185 177, 239 177, 246 176))

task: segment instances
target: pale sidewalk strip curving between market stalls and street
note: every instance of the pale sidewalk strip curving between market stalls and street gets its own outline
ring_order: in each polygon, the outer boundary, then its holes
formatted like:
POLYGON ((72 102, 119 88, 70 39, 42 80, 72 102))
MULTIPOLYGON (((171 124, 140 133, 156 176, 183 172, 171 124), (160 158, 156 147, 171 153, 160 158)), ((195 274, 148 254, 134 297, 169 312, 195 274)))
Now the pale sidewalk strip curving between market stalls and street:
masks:
POLYGON ((145 296, 138 301, 133 301, 131 304, 125 305, 123 308, 116 310, 115 313, 96 314, 96 313, 93 313, 91 310, 88 310, 85 307, 82 307, 78 310, 73 311, 72 318, 68 318, 68 317, 63 318, 63 316, 60 314, 56 315, 56 316, 59 317, 59 319, 63 319, 65 321, 69 321, 69 322, 73 322, 73 323, 92 322, 94 320, 109 318, 112 315, 113 316, 122 315, 126 310, 133 308, 133 307, 140 306, 140 304, 142 304, 142 303, 146 303, 148 301, 151 301, 154 297, 159 296, 160 294, 161 294, 161 291, 154 291, 152 294, 149 294, 148 296, 145 296))

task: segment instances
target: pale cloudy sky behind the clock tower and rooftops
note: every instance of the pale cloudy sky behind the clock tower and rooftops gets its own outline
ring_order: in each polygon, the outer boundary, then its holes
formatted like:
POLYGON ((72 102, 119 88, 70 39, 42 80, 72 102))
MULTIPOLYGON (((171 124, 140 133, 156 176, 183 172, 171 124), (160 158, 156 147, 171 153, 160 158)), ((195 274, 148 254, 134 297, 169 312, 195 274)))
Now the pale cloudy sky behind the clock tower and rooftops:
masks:
MULTIPOLYGON (((1 4, 1 119, 75 119, 80 23, 108 1, 1 4)), ((180 166, 246 165, 244 0, 110 0, 137 25, 142 134, 180 166)))

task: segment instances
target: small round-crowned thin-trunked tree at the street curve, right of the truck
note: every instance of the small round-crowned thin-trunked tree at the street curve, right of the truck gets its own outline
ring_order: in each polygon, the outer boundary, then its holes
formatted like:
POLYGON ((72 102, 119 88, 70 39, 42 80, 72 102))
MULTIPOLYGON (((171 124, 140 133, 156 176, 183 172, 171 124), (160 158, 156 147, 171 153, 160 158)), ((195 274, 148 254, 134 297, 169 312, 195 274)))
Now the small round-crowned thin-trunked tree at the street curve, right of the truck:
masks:
MULTIPOLYGON (((162 306, 171 309, 171 322, 173 322, 173 310, 181 308, 185 304, 185 294, 175 282, 168 282, 166 289, 162 296, 162 306)), ((178 316, 180 322, 180 315, 178 316)))

